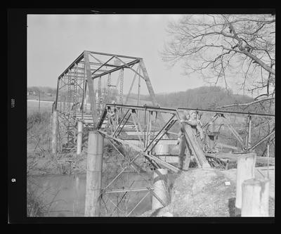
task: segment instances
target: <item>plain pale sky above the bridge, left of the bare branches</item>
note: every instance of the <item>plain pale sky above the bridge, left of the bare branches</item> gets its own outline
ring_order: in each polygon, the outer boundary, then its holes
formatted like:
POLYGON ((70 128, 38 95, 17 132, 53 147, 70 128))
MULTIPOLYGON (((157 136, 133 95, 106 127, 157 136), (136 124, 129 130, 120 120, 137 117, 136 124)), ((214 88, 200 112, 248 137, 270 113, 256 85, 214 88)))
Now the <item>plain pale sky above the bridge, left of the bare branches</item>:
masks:
POLYGON ((27 86, 55 87, 58 76, 82 51, 116 53, 144 59, 155 93, 202 85, 178 65, 162 61, 169 21, 182 15, 27 15, 27 86))

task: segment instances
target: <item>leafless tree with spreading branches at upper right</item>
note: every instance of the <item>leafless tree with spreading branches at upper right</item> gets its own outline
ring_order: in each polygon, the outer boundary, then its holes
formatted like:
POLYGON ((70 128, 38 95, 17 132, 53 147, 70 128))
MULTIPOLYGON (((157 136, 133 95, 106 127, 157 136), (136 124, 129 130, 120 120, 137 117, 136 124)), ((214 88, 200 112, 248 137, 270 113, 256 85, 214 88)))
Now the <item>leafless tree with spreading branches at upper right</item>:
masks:
POLYGON ((256 98, 275 95, 275 15, 186 15, 170 22, 164 61, 212 84, 235 81, 256 98))

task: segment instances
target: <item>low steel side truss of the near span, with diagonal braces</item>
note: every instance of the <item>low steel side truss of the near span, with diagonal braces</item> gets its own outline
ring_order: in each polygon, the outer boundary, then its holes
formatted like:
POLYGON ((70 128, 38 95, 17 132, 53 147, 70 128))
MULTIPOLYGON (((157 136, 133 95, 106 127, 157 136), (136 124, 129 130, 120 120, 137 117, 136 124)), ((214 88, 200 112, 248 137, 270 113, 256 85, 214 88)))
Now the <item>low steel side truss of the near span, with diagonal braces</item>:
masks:
MULTIPOLYGON (((162 162, 162 160, 156 159, 153 155, 154 149, 157 145, 176 145, 178 138, 178 131, 181 128, 180 120, 181 115, 183 115, 184 110, 193 110, 193 109, 167 109, 167 108, 155 108, 155 107, 141 107, 141 106, 133 106, 133 105, 114 105, 107 104, 107 108, 105 108, 103 112, 103 118, 98 122, 98 129, 100 129, 100 133, 107 136, 107 138, 113 138, 115 141, 119 143, 123 143, 129 145, 131 148, 140 151, 146 159, 150 159, 155 164, 160 164, 161 167, 167 167, 171 170, 177 171, 172 165, 167 165, 166 162, 162 162), (101 127, 107 112, 115 112, 115 116, 119 117, 119 121, 116 119, 112 119, 112 121, 108 121, 109 124, 106 131, 101 127), (138 112, 139 117, 136 116, 136 112, 138 112), (123 114, 119 114, 123 113, 123 114), (164 122, 164 126, 160 126, 158 123, 157 115, 162 113, 165 115, 166 122, 164 122), (112 125, 112 126, 110 126, 112 125), (113 129, 113 130, 112 130, 113 129)), ((261 143, 266 141, 268 138, 272 138, 275 134, 275 125, 274 125, 274 115, 270 114, 259 114, 259 113, 250 113, 250 112, 224 112, 224 111, 215 111, 215 110, 197 110, 204 115, 201 115, 203 121, 206 122, 202 126, 204 131, 204 140, 200 140, 197 137, 197 141, 202 147, 203 144, 207 144, 207 136, 211 135, 211 132, 207 129, 209 126, 209 122, 211 117, 213 117, 213 124, 216 125, 218 129, 217 132, 221 132, 221 134, 226 134, 227 137, 219 139, 220 141, 216 142, 216 150, 221 148, 221 152, 223 149, 230 149, 234 152, 247 152, 249 150, 254 150, 261 143), (237 123, 233 122, 233 117, 236 118, 237 123), (271 121, 271 130, 268 134, 264 134, 261 136, 254 136, 253 131, 249 131, 248 119, 251 117, 251 121, 253 122, 256 119, 272 119, 271 121), (255 119, 256 118, 256 119, 255 119), (236 125, 236 126, 233 126, 236 125), (228 141, 226 141, 228 140, 228 141), (251 143, 250 141, 255 143, 251 143), (206 142, 204 142, 206 141, 206 142), (235 143, 235 145, 230 145, 228 142, 235 143), (247 145, 247 147, 246 147, 247 145)), ((109 115, 110 116, 110 115, 109 115)), ((110 119, 111 117, 108 117, 110 119)), ((187 138, 187 142, 189 142, 189 136, 185 135, 187 138)), ((195 151, 196 149, 192 149, 195 151)), ((212 149, 202 149, 202 151, 208 153, 212 152, 212 149)), ((214 150, 213 150, 214 151, 214 150)), ((224 150, 226 151, 226 150, 224 150)), ((213 152, 214 153, 214 152, 213 152)), ((166 157, 177 157, 176 155, 167 153, 166 157)), ((195 157, 200 157, 196 155, 195 157)), ((163 158, 163 157, 160 157, 163 158)), ((198 166, 203 166, 202 164, 198 166)))

